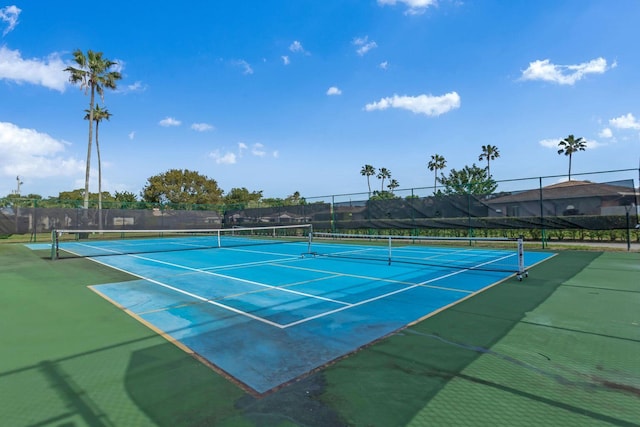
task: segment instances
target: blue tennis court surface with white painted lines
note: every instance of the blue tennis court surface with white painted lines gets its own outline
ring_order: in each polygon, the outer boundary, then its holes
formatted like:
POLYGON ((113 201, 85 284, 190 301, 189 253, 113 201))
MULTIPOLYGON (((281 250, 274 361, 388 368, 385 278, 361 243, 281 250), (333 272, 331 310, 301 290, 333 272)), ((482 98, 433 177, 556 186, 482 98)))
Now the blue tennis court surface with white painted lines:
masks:
MULTIPOLYGON (((71 242, 63 249, 82 254, 103 244, 106 253, 117 253, 109 246, 113 242, 71 242)), ((318 249, 385 250, 316 243, 318 249)), ((407 245, 399 250, 429 265, 301 256, 307 251, 303 242, 103 255, 93 260, 139 280, 92 289, 233 381, 265 393, 517 270, 515 248, 407 245), (438 266, 439 260, 442 265, 460 260, 464 268, 438 266), (513 270, 485 269, 494 263, 513 270)), ((526 253, 525 263, 552 255, 526 253)))

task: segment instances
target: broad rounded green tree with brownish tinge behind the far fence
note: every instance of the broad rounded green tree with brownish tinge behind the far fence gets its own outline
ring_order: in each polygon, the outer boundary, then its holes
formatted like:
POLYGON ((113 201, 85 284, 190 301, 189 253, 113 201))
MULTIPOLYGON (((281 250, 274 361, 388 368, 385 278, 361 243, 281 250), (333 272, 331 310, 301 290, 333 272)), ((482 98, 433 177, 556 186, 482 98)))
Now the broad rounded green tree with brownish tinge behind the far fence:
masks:
POLYGON ((148 178, 141 196, 150 203, 217 204, 222 193, 213 179, 188 169, 171 169, 148 178))

